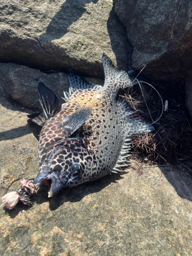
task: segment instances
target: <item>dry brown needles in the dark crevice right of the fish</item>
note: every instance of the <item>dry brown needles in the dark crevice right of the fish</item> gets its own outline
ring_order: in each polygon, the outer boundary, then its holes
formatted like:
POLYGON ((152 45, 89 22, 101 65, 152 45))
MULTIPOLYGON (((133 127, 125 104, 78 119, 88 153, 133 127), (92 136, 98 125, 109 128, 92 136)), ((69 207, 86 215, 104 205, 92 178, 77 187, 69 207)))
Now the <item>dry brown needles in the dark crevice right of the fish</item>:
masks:
MULTIPOLYGON (((145 100, 138 85, 130 92, 126 92, 123 97, 126 97, 135 109, 142 110, 147 116, 149 111, 152 116, 151 121, 155 121, 162 112, 162 102, 154 89, 146 86, 145 83, 141 86, 145 100)), ((133 136, 131 159, 138 163, 137 174, 143 174, 143 163, 184 166, 186 171, 192 174, 192 125, 185 110, 182 89, 173 92, 173 87, 168 90, 168 86, 160 87, 157 84, 153 86, 161 94, 163 103, 168 100, 168 109, 163 111, 155 133, 133 136)))

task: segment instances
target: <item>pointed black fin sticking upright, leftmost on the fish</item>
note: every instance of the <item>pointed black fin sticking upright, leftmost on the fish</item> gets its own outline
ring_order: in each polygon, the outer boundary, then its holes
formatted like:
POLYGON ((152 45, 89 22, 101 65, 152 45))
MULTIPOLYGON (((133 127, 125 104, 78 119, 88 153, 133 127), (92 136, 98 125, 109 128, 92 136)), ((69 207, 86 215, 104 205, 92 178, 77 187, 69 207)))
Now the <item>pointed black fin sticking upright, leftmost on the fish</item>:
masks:
POLYGON ((61 103, 57 96, 44 83, 38 83, 39 101, 45 120, 56 115, 61 110, 61 103))

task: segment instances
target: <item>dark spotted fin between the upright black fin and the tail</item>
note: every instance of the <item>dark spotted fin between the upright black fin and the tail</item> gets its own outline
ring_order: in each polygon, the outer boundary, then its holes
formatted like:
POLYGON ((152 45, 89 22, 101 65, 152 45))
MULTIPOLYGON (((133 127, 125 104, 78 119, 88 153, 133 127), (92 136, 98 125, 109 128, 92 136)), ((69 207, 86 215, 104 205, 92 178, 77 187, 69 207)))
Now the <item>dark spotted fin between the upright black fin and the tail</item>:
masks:
MULTIPOLYGON (((97 84, 88 82, 84 77, 78 75, 76 70, 69 68, 68 69, 68 80, 69 80, 69 97, 77 90, 86 90, 86 89, 100 89, 101 86, 97 84)), ((68 97, 68 98, 69 98, 68 97)))

